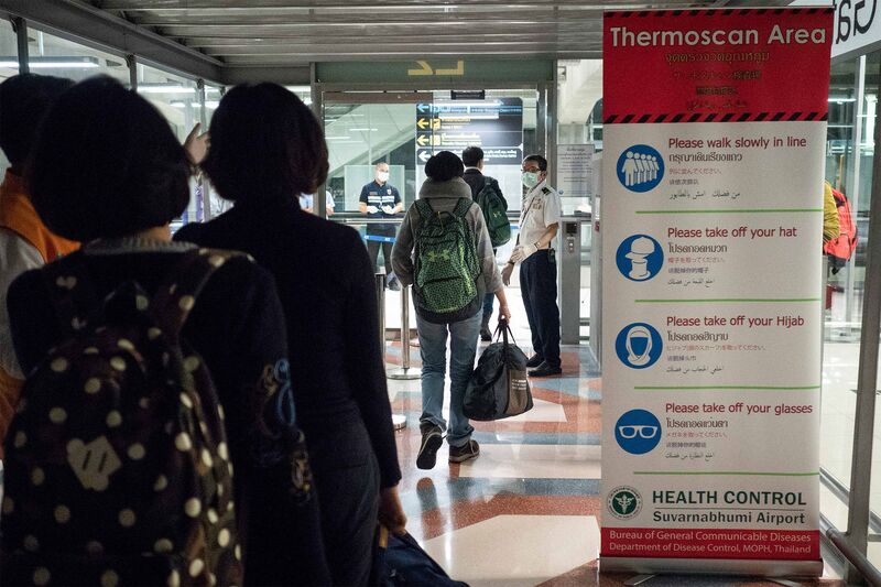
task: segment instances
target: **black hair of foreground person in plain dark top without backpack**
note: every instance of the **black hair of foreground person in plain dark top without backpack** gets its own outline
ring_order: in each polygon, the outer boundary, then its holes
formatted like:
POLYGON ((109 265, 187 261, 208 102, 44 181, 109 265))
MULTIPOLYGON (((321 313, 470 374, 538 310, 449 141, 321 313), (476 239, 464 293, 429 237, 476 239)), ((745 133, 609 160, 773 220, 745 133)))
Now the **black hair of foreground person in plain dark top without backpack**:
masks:
MULTIPOLYGON (((327 178, 327 144, 312 110, 276 84, 240 85, 220 100, 202 167, 239 204, 314 194, 327 178)), ((296 202, 296 199, 294 199, 296 202)))

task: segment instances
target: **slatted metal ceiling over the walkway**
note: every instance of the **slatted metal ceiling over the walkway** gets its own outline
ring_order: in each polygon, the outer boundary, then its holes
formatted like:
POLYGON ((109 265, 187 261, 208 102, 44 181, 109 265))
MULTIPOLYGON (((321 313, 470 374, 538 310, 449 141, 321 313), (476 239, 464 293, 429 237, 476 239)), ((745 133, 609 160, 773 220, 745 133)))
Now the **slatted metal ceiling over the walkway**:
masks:
POLYGON ((605 9, 785 6, 788 0, 93 0, 227 66, 320 61, 596 58, 605 9))

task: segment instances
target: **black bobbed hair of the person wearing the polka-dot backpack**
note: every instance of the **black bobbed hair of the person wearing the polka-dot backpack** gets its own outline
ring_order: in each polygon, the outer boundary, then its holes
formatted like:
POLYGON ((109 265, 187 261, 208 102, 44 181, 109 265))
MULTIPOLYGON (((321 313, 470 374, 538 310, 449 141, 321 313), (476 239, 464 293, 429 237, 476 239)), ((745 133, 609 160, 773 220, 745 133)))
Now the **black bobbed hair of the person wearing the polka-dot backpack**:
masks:
POLYGON ((168 122, 108 76, 65 91, 43 122, 28 170, 46 226, 70 240, 163 226, 189 202, 189 164, 168 122))

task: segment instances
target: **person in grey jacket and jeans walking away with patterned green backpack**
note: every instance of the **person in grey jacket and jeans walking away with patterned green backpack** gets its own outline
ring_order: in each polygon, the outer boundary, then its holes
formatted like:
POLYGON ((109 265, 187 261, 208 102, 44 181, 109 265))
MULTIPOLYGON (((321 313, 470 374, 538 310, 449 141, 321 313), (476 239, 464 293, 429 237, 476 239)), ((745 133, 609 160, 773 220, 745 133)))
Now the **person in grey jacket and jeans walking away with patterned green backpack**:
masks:
POLYGON ((449 461, 480 454, 463 414, 463 399, 475 367, 480 307, 487 292, 499 300, 500 319, 511 319, 489 231, 463 178, 461 160, 440 151, 425 164, 428 178, 406 211, 392 249, 392 269, 402 285, 413 285, 422 355, 422 444, 416 466, 431 469, 443 444, 449 461), (444 383, 449 338, 449 427, 444 420, 444 383))

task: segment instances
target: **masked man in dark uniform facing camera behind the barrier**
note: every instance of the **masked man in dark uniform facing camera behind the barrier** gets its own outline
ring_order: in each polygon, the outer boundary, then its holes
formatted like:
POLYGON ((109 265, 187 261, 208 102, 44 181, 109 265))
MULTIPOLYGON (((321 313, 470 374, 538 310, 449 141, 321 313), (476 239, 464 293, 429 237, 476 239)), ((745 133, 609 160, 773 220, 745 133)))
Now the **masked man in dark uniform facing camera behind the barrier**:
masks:
MULTIPOLYGON (((389 164, 377 163, 373 177, 372 182, 361 188, 358 209, 368 218, 394 218, 404 208, 404 205, 398 188, 389 183, 389 164)), ((400 289, 392 273, 392 243, 396 229, 396 222, 367 225, 367 236, 378 237, 377 239, 367 239, 367 251, 370 253, 370 262, 373 263, 373 273, 378 271, 377 259, 380 244, 382 244, 385 275, 389 276, 389 287, 392 290, 400 289)))

